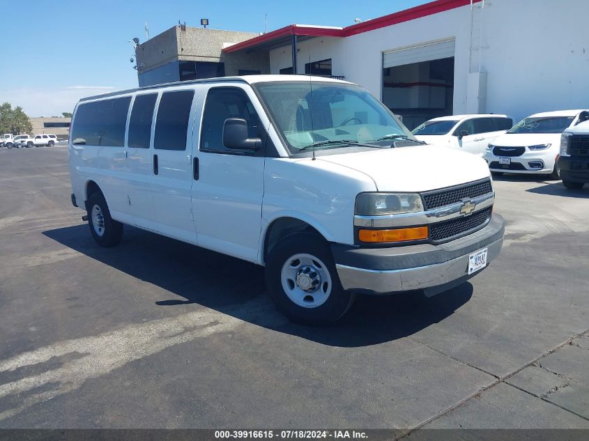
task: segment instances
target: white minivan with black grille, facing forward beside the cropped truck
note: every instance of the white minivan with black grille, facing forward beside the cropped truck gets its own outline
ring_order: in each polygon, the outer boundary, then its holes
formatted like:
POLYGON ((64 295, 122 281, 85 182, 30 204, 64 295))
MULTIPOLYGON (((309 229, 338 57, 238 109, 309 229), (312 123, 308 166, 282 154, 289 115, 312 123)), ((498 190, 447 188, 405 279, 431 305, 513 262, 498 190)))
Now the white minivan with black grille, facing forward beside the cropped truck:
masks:
POLYGON ((547 174, 560 179, 560 135, 576 125, 581 112, 546 111, 523 118, 487 146, 484 159, 491 173, 547 174))

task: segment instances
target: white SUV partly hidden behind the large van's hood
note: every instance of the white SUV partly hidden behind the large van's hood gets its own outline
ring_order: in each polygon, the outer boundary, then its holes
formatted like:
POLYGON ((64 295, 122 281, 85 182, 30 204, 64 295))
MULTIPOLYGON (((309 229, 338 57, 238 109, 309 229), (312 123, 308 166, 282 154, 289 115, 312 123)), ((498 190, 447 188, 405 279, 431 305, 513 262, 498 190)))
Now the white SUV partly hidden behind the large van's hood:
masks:
POLYGON ((430 119, 413 130, 420 141, 436 146, 456 148, 482 156, 489 142, 512 127, 507 115, 473 114, 441 116, 430 119))

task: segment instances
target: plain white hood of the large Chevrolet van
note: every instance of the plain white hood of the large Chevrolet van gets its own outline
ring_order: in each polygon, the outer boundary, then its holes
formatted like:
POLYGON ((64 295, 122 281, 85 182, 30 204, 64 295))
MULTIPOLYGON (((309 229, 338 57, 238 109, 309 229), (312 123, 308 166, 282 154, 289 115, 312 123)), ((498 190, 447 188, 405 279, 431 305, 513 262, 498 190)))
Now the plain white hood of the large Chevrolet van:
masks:
POLYGON ((374 149, 317 160, 365 173, 381 192, 425 192, 489 176, 487 162, 481 157, 433 146, 374 149))

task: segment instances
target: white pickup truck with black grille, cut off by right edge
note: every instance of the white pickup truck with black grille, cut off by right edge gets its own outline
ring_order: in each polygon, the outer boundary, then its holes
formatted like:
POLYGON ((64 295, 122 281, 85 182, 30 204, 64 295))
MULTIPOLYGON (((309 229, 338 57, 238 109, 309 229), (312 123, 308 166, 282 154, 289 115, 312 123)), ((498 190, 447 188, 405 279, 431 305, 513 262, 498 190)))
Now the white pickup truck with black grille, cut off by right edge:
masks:
POLYGON ((563 185, 579 189, 589 183, 589 111, 579 115, 579 123, 560 137, 558 168, 563 185))

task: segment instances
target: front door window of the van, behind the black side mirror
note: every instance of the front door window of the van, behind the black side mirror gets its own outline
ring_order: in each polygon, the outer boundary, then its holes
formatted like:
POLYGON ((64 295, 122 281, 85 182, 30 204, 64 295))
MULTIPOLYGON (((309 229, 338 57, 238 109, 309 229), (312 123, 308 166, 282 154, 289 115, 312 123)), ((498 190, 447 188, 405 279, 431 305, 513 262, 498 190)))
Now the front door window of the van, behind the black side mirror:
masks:
POLYGON ((223 145, 223 125, 227 118, 245 119, 248 136, 250 138, 261 136, 258 114, 254 110, 250 98, 247 98, 247 94, 242 89, 235 87, 211 88, 206 96, 204 106, 200 150, 236 153, 236 150, 229 150, 223 145))

